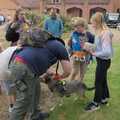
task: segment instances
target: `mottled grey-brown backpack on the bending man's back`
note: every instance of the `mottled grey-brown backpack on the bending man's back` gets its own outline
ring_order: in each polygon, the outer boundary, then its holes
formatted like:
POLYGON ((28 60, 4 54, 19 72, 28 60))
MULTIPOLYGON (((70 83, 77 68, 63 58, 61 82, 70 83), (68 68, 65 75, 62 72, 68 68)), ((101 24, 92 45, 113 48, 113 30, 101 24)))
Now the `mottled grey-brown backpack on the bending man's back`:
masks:
POLYGON ((48 40, 58 40, 65 45, 62 39, 55 38, 50 33, 40 29, 39 27, 33 27, 29 29, 29 31, 24 31, 20 34, 20 44, 22 46, 45 47, 48 40))

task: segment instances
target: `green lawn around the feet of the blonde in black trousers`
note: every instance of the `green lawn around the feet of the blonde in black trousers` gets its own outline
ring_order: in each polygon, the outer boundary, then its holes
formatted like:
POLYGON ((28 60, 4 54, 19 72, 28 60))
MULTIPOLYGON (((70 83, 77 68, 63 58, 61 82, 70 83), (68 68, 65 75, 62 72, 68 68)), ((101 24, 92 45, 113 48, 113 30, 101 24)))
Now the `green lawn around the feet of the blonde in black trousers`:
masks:
MULTIPOLYGON (((110 104, 103 106, 100 110, 87 113, 84 107, 92 100, 94 92, 87 92, 87 98, 74 101, 75 96, 64 98, 64 104, 57 107, 49 120, 120 120, 120 44, 114 44, 114 58, 108 74, 108 82, 110 87, 110 104)), ((85 76, 87 85, 94 84, 95 62, 89 66, 89 70, 85 76)))

